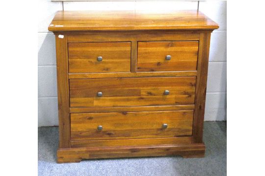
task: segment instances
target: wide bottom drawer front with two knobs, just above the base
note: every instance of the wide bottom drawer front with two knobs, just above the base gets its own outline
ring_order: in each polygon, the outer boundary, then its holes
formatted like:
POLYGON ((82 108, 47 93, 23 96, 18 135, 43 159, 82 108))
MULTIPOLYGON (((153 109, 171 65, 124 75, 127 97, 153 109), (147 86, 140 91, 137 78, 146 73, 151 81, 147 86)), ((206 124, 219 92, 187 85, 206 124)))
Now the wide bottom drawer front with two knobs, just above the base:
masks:
POLYGON ((177 137, 191 135, 192 124, 193 110, 72 113, 71 139, 177 137))

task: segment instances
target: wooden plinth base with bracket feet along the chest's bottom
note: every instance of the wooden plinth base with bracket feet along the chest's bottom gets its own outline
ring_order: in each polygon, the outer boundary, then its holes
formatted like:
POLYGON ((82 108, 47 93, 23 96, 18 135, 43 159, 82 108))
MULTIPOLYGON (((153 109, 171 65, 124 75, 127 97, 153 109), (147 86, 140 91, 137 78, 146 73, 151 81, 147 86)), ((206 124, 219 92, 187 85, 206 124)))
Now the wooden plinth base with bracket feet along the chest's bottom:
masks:
POLYGON ((82 159, 181 155, 204 157, 204 144, 154 145, 135 147, 103 147, 61 149, 57 151, 57 162, 80 162, 82 159))

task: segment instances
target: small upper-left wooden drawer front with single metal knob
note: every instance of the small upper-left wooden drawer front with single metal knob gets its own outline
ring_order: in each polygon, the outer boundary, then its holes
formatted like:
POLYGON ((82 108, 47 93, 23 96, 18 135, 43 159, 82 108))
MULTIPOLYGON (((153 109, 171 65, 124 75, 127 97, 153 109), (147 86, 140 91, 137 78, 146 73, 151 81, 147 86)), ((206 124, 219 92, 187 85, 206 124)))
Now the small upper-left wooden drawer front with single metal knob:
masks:
POLYGON ((131 42, 69 43, 68 58, 69 73, 130 72, 131 42))

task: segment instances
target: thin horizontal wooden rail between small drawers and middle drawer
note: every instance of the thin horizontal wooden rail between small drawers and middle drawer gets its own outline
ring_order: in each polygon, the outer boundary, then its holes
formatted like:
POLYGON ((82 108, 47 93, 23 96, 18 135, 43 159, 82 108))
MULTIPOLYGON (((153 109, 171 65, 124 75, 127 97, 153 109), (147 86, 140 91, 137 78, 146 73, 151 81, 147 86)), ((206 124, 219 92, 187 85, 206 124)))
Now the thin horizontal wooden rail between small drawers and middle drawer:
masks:
POLYGON ((130 72, 130 73, 69 73, 69 79, 83 78, 139 78, 139 77, 172 77, 197 76, 197 71, 157 71, 157 72, 130 72))

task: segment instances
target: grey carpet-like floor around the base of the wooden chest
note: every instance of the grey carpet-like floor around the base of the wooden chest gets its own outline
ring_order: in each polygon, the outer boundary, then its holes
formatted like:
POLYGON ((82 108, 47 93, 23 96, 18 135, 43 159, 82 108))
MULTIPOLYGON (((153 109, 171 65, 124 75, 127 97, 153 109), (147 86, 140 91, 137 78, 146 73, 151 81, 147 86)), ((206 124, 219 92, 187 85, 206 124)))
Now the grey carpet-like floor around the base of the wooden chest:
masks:
POLYGON ((226 122, 205 122, 204 158, 181 156, 56 163, 58 127, 38 128, 39 176, 226 176, 226 122))

